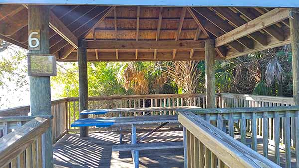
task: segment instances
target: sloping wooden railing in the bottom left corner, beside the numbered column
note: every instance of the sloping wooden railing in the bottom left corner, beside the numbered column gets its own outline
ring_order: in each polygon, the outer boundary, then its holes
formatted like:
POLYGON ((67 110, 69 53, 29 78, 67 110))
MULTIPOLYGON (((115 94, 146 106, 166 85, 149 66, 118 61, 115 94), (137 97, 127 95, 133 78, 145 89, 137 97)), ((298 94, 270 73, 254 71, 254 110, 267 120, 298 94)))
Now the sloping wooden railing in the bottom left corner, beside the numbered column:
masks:
POLYGON ((44 168, 42 136, 49 127, 49 118, 31 118, 0 138, 0 168, 44 168))

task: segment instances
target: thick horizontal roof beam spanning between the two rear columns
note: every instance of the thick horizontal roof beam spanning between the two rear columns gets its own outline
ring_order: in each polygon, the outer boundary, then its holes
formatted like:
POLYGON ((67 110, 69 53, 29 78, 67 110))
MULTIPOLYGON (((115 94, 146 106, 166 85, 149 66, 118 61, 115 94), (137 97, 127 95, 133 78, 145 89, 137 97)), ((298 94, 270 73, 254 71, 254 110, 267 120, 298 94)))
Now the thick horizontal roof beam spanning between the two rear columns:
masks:
POLYGON ((87 49, 204 49, 204 40, 184 41, 87 41, 87 49))

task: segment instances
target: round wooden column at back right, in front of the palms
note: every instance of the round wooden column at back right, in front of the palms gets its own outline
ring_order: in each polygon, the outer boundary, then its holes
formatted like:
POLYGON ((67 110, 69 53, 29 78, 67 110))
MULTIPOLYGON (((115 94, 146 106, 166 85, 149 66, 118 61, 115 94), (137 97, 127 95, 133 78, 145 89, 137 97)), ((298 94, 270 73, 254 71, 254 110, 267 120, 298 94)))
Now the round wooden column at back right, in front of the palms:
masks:
POLYGON ((215 48, 214 40, 205 40, 206 107, 215 108, 215 48))

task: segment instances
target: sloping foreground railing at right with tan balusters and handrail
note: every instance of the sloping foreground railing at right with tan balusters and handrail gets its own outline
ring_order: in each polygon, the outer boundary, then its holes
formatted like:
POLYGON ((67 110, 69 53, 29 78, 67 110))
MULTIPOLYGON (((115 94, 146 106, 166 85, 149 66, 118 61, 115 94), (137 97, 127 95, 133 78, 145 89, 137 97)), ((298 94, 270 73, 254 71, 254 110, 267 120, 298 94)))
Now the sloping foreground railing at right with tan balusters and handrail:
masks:
POLYGON ((185 168, 281 168, 192 112, 180 111, 185 168))

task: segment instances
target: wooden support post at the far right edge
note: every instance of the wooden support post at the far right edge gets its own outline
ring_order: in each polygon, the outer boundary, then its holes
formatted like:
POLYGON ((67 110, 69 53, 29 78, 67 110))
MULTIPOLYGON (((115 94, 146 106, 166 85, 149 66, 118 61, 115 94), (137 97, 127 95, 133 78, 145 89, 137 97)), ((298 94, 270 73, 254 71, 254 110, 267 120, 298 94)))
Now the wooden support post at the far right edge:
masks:
MULTIPOLYGON (((292 73, 293 73, 293 99, 299 105, 299 9, 290 9, 290 33, 292 46, 292 73)), ((295 116, 296 136, 296 168, 299 168, 299 118, 298 111, 295 116)))

